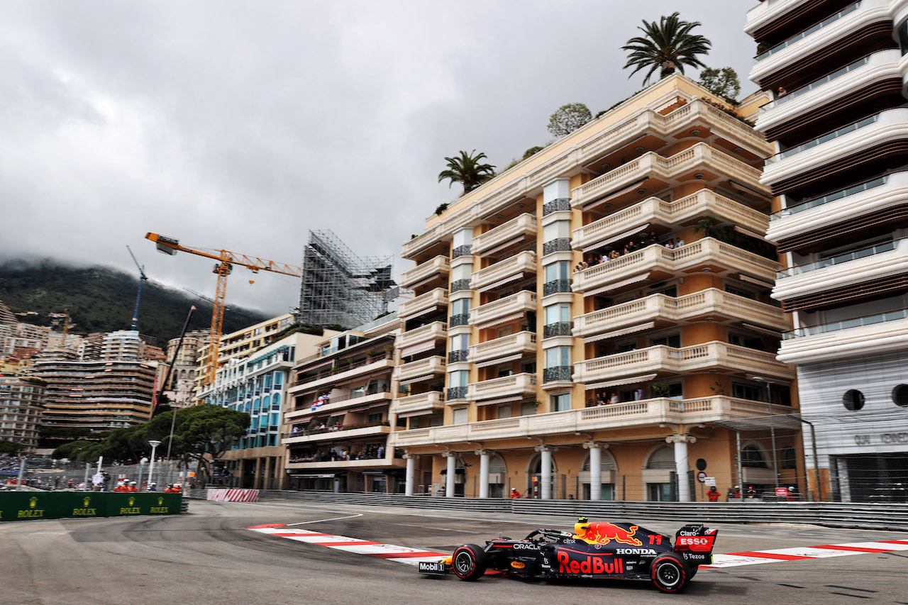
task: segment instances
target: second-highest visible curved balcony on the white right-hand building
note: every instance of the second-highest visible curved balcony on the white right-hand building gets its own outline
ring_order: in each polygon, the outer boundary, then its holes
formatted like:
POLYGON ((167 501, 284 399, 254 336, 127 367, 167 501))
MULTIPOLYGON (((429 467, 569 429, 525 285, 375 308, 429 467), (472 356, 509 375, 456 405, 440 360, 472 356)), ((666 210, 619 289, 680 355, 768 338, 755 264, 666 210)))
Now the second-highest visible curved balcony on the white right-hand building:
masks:
POLYGON ((854 5, 845 6, 835 15, 826 17, 820 23, 757 55, 750 70, 750 80, 760 82, 766 76, 796 64, 805 56, 832 48, 846 35, 866 25, 882 20, 891 22, 893 17, 889 15, 888 5, 889 0, 861 0, 854 5))

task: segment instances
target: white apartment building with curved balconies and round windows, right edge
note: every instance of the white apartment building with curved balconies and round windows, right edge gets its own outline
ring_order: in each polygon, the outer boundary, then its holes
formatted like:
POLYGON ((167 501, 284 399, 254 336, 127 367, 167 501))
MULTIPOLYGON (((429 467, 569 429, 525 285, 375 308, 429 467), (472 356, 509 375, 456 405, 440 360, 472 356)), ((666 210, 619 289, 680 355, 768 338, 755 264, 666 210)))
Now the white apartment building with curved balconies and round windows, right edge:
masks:
POLYGON ((908 501, 908 1, 761 2, 745 31, 808 466, 836 500, 908 501))

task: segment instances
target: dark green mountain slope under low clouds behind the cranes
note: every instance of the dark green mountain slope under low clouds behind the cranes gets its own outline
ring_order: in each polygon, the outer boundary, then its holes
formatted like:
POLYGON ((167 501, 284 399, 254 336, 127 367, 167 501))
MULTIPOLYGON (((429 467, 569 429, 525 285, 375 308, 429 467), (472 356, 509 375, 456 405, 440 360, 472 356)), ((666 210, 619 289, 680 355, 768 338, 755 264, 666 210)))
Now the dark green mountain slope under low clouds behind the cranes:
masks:
MULTIPOLYGON (((129 330, 133 321, 138 279, 102 266, 72 267, 53 260, 40 263, 9 261, 0 264, 0 302, 20 315, 20 321, 51 325, 48 313, 69 312, 72 333, 129 330)), ((142 288, 139 331, 157 338, 159 346, 180 335, 189 307, 189 330, 211 327, 212 304, 151 280, 142 288)), ((231 305, 224 313, 224 332, 234 332, 267 317, 231 305)))

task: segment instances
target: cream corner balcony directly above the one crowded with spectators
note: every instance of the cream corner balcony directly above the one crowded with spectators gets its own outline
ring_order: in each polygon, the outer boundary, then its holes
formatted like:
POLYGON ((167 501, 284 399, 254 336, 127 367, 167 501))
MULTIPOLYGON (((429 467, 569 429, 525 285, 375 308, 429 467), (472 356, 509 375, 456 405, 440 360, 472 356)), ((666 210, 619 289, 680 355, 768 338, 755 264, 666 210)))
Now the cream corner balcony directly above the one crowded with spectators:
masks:
POLYGON ((574 230, 575 248, 593 249, 597 243, 604 242, 628 230, 643 227, 647 223, 659 223, 674 227, 696 219, 706 213, 740 225, 755 233, 766 233, 768 217, 743 203, 729 200, 709 189, 682 197, 675 202, 665 202, 657 197, 650 197, 643 202, 609 214, 593 223, 574 230))

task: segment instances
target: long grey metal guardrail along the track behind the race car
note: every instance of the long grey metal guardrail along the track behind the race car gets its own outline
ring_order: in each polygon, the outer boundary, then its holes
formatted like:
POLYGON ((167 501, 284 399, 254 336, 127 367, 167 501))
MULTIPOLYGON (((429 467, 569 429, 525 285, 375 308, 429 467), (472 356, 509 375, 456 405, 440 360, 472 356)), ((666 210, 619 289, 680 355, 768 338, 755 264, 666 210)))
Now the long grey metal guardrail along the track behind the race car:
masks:
MULTIPOLYGON (((205 499, 205 490, 190 490, 190 498, 205 499)), ((908 531, 908 504, 844 502, 641 502, 584 500, 524 500, 508 498, 444 498, 381 493, 262 490, 260 501, 282 500, 400 506, 436 511, 483 511, 521 515, 658 519, 703 523, 801 523, 826 527, 908 531)))

